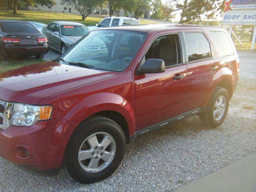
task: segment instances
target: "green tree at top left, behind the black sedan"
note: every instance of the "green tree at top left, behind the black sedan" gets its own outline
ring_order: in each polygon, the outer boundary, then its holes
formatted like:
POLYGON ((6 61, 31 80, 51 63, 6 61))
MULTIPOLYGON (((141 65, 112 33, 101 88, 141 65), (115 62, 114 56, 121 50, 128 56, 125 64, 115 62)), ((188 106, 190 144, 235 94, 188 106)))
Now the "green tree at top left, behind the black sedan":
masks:
POLYGON ((54 0, 8 0, 8 2, 13 5, 13 14, 17 14, 17 6, 22 4, 29 6, 34 6, 34 4, 53 6, 56 4, 54 0))

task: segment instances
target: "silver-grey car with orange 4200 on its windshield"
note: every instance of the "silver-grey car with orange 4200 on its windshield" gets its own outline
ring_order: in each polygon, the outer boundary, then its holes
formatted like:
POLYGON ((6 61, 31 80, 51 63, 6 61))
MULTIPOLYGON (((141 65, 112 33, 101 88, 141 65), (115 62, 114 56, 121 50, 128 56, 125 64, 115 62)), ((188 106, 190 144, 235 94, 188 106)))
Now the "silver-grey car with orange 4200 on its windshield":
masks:
POLYGON ((89 31, 84 24, 66 21, 51 22, 42 29, 48 46, 62 54, 89 31))

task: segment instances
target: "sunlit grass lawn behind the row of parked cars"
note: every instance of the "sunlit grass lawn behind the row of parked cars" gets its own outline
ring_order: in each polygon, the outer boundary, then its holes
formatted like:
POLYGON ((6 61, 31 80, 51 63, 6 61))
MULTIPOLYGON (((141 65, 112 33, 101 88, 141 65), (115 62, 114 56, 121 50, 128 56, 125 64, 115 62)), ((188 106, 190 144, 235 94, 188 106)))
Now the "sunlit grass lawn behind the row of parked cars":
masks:
MULTIPOLYGON (((82 16, 71 13, 59 12, 44 12, 32 10, 18 10, 18 14, 12 14, 12 10, 1 10, 0 19, 16 19, 23 21, 36 21, 44 24, 49 24, 52 21, 72 21, 85 24, 87 26, 94 26, 100 22, 102 18, 88 16, 84 21, 81 20, 82 16)), ((140 20, 141 24, 157 23, 156 21, 140 20)))

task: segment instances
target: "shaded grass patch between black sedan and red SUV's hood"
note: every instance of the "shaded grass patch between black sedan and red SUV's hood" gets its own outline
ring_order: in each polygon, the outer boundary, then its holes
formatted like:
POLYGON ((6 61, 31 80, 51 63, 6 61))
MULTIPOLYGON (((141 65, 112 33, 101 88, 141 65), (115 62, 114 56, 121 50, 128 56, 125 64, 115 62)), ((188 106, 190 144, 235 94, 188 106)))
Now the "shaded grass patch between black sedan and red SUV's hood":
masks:
POLYGON ((44 60, 28 59, 28 58, 12 58, 10 60, 0 61, 0 73, 9 71, 12 69, 32 65, 36 63, 44 62, 44 60))

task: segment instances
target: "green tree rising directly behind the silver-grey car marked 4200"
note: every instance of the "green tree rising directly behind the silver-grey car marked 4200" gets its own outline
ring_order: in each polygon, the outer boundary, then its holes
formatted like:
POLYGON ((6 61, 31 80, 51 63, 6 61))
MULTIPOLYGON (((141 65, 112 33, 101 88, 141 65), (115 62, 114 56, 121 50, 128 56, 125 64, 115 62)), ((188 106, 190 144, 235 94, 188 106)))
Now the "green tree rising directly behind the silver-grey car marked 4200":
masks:
POLYGON ((82 20, 90 14, 92 7, 96 6, 96 0, 61 0, 61 4, 74 6, 82 16, 82 20))

